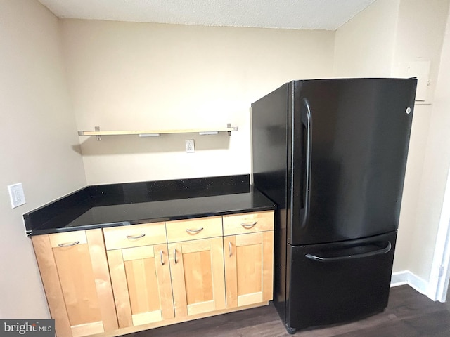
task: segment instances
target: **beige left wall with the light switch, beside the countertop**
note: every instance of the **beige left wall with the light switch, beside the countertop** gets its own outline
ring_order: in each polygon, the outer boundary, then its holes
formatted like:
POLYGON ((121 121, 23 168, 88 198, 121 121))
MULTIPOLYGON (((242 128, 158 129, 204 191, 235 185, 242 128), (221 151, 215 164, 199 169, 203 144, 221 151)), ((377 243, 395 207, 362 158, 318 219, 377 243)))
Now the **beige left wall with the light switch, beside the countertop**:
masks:
POLYGON ((0 317, 46 318, 22 214, 85 185, 58 20, 37 1, 0 1, 0 317), (7 185, 27 204, 11 209, 7 185))

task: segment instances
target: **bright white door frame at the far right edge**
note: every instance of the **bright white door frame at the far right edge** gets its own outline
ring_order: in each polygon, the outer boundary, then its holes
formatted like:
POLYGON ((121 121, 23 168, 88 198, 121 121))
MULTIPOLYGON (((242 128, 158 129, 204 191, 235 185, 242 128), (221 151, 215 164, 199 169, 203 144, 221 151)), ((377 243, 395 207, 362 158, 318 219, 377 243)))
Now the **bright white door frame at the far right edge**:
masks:
POLYGON ((442 202, 441 217, 437 230, 435 255, 433 256, 427 296, 445 302, 450 280, 450 171, 442 202))

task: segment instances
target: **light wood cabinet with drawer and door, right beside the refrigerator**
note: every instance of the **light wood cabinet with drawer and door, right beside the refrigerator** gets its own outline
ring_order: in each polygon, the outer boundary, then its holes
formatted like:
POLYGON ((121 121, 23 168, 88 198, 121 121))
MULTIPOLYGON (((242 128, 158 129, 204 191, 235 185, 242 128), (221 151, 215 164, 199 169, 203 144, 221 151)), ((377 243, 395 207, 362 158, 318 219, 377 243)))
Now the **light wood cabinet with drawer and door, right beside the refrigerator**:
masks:
POLYGON ((224 216, 226 308, 272 299, 274 213, 224 216))

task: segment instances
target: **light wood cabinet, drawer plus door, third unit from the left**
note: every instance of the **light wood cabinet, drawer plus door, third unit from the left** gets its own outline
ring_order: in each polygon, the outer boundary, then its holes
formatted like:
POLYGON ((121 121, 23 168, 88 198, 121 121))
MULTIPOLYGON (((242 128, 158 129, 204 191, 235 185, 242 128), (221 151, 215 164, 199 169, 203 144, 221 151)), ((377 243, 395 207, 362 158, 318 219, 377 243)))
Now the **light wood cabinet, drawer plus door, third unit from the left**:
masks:
POLYGON ((176 317, 225 309, 221 216, 166 226, 176 317))

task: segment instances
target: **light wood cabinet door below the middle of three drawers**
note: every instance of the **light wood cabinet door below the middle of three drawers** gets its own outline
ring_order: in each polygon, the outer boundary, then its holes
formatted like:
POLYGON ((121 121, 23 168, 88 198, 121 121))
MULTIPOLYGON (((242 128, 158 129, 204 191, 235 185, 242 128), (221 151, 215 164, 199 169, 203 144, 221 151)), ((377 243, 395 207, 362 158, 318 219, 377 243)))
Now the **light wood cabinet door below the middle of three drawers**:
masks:
POLYGON ((169 243, 176 317, 226 308, 222 237, 169 243))

